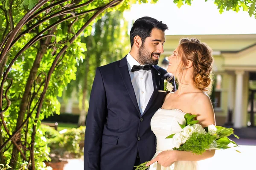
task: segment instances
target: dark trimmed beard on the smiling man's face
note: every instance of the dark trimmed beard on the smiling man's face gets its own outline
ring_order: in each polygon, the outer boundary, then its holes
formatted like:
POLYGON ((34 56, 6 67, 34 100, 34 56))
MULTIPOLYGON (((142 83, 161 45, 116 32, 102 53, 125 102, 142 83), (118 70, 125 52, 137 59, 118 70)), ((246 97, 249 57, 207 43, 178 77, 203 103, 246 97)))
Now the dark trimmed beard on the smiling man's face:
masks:
POLYGON ((142 65, 144 64, 149 64, 149 65, 157 65, 158 64, 158 59, 154 60, 153 55, 157 54, 160 57, 160 53, 150 53, 147 51, 147 49, 142 45, 139 48, 138 51, 138 62, 140 62, 142 65))

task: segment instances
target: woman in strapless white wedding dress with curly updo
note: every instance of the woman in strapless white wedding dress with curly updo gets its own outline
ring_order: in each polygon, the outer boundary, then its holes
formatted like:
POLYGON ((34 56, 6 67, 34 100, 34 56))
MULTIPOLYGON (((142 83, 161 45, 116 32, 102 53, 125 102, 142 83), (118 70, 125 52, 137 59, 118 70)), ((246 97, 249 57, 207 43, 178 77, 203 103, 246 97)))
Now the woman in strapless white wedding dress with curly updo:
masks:
POLYGON ((167 136, 181 131, 184 115, 197 115, 203 127, 215 125, 215 115, 209 92, 212 88, 212 50, 198 39, 182 39, 168 58, 167 71, 179 83, 176 92, 166 95, 163 106, 151 119, 151 129, 157 137, 157 152, 148 162, 149 170, 197 170, 196 161, 214 156, 215 150, 202 155, 172 150, 172 139, 167 136))

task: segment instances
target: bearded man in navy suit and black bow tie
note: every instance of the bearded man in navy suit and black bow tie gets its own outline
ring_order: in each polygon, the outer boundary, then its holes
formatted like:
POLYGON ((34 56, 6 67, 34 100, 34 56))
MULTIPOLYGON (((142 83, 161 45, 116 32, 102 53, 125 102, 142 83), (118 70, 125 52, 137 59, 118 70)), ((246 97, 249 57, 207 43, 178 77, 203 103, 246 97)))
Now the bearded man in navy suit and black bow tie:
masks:
MULTIPOLYGON (((96 69, 84 139, 84 170, 133 170, 156 151, 150 121, 161 108, 164 79, 157 66, 166 24, 151 17, 131 28, 131 51, 123 59, 96 69)), ((176 90, 174 79, 171 80, 176 90)))

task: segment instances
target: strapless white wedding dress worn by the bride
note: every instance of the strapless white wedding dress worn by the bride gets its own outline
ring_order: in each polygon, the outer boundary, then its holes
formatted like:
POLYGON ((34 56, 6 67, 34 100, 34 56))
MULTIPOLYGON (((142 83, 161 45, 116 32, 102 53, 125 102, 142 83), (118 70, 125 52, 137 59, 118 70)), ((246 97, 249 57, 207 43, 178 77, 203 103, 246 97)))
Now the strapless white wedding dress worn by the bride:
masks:
MULTIPOLYGON (((159 109, 151 119, 151 130, 157 137, 157 152, 154 159, 160 152, 173 150, 173 139, 165 139, 167 136, 178 133, 182 129, 180 124, 185 123, 184 115, 186 113, 179 109, 159 109)), ((157 162, 151 164, 148 170, 197 170, 196 161, 176 161, 170 167, 163 167, 157 162)))

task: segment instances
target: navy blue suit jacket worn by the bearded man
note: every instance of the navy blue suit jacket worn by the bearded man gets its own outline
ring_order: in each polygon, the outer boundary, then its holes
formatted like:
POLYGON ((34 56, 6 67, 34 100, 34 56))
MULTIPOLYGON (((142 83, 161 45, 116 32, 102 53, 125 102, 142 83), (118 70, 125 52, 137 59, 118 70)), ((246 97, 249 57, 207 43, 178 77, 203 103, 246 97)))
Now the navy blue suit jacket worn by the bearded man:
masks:
MULTIPOLYGON (((156 137, 150 121, 162 107, 164 79, 170 74, 154 65, 154 92, 143 115, 131 83, 126 57, 96 69, 84 139, 84 170, 132 170, 152 159, 156 137)), ((171 80, 176 90, 174 79, 171 80)))

